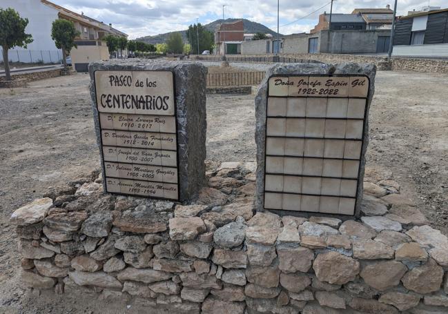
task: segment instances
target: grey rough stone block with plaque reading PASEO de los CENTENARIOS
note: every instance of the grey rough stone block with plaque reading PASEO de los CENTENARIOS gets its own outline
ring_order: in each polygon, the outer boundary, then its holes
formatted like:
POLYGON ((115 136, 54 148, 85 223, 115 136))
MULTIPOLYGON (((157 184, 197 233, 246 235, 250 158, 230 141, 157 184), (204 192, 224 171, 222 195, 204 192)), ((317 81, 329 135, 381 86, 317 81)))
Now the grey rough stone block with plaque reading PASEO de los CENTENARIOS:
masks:
POLYGON ((182 201, 204 184, 206 68, 99 61, 89 66, 108 193, 182 201))

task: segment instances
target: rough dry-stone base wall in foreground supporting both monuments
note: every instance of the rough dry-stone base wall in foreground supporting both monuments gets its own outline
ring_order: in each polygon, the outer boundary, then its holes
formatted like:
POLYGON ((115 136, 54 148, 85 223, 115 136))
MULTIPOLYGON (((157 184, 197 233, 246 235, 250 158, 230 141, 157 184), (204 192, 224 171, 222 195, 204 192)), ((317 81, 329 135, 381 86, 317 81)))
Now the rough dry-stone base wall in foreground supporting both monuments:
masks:
POLYGON ((342 222, 254 215, 254 171, 222 164, 191 205, 104 195, 97 173, 54 188, 11 217, 23 284, 173 313, 448 312, 448 237, 395 181, 342 222))

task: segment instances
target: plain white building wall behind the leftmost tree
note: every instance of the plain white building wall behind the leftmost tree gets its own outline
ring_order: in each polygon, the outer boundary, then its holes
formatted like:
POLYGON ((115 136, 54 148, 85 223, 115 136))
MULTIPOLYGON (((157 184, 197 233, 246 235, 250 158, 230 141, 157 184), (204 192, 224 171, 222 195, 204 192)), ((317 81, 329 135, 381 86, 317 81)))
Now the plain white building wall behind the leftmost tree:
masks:
POLYGON ((58 63, 61 60, 62 52, 51 39, 51 25, 58 18, 55 8, 46 6, 40 0, 1 0, 0 8, 13 8, 20 17, 28 18, 25 32, 31 34, 33 39, 27 48, 10 49, 10 61, 58 63))

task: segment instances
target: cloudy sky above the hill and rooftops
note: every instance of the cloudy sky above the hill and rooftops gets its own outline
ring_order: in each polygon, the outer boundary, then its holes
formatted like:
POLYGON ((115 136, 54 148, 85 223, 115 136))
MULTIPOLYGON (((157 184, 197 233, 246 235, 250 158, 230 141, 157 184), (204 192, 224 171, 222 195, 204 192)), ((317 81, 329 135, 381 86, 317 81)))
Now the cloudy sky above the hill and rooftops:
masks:
MULTIPOLYGON (((280 0, 280 33, 307 32, 318 21, 319 14, 329 12, 330 0, 280 0), (327 5, 327 6, 326 6, 327 5), (324 6, 324 8, 321 8, 324 6), (320 10, 318 10, 321 8, 320 10), (311 12, 309 17, 302 19, 311 12), (299 20, 300 19, 300 20, 299 20), (299 21, 298 21, 299 20, 299 21)), ((164 32, 184 30, 195 23, 209 23, 222 18, 225 5, 226 18, 246 18, 277 30, 276 0, 54 0, 60 6, 104 21, 129 35, 130 39, 164 32)), ((385 8, 393 0, 338 0, 333 2, 333 12, 349 13, 353 8, 385 8)), ((447 7, 446 0, 398 0, 398 14, 420 10, 422 6, 447 7), (445 6, 444 6, 445 4, 445 6)))

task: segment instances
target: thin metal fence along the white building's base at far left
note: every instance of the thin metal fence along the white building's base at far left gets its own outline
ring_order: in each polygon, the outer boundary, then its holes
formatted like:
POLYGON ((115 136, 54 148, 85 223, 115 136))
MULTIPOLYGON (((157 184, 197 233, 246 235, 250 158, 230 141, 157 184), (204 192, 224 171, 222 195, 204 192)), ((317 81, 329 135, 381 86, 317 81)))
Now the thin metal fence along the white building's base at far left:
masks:
MULTIPOLYGON (((21 63, 61 63, 61 50, 8 50, 10 62, 21 63)), ((0 49, 0 62, 3 62, 3 50, 0 49)))

